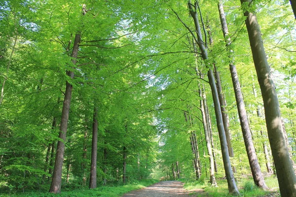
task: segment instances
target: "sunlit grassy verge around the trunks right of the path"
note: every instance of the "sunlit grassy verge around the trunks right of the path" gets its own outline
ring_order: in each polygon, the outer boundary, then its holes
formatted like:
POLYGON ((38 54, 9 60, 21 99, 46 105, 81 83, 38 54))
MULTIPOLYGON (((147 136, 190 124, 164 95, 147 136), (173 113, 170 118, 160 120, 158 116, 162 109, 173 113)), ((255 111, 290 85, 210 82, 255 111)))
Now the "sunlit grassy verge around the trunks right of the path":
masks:
MULTIPOLYGON (((242 197, 267 197, 268 195, 270 196, 270 194, 272 194, 272 197, 279 197, 277 179, 273 176, 265 177, 264 179, 270 191, 260 190, 255 186, 252 177, 238 178, 237 187, 242 197)), ((227 180, 222 177, 217 178, 218 187, 216 188, 211 187, 207 179, 201 181, 183 181, 185 182, 184 187, 186 190, 203 189, 207 193, 205 194, 207 197, 231 197, 231 195, 228 194, 227 180)), ((198 197, 202 197, 202 195, 198 197)))

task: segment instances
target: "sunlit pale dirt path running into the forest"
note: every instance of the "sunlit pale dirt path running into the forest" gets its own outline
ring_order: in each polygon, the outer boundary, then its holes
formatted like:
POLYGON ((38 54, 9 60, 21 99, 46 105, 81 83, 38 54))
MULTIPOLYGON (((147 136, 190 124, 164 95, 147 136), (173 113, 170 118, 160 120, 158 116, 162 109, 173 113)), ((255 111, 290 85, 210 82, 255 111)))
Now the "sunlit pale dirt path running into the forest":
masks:
MULTIPOLYGON (((203 193, 203 191, 200 192, 203 193)), ((186 191, 180 181, 161 181, 142 190, 127 193, 122 197, 189 197, 190 193, 192 192, 186 191)), ((194 191, 194 193, 199 192, 194 191)), ((194 196, 190 195, 190 197, 194 196)))

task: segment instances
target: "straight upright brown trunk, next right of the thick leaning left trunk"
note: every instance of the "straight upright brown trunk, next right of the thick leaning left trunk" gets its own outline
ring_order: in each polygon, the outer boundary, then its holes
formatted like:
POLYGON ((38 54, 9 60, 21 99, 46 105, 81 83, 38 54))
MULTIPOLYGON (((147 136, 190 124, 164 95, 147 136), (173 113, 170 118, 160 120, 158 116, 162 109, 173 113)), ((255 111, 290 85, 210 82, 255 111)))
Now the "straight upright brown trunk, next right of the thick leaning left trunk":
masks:
POLYGON ((90 179, 89 188, 97 187, 97 148, 98 148, 98 116, 96 101, 94 103, 93 114, 93 129, 92 129, 92 143, 91 143, 91 164, 90 164, 90 179))

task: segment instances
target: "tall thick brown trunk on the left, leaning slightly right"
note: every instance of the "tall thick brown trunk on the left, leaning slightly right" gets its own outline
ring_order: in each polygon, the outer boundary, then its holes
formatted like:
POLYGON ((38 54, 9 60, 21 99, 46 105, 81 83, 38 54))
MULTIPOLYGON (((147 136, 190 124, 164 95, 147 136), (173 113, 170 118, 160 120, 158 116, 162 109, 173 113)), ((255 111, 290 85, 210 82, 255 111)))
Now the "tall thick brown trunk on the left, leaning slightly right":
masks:
MULTIPOLYGON (((78 55, 80 37, 81 37, 80 33, 77 32, 75 34, 74 46, 73 46, 73 51, 71 55, 71 57, 73 58, 72 63, 74 65, 76 64, 76 58, 78 55)), ((74 72, 67 70, 67 75, 73 78, 74 72)), ((55 193, 55 194, 61 193, 62 169, 63 169, 64 152, 65 152, 64 142, 66 141, 72 89, 73 89, 73 86, 68 81, 66 81, 66 91, 65 91, 64 103, 63 103, 61 126, 60 126, 60 133, 59 133, 59 138, 61 140, 58 141, 58 145, 57 145, 54 170, 52 175, 51 186, 49 189, 50 193, 55 193)))

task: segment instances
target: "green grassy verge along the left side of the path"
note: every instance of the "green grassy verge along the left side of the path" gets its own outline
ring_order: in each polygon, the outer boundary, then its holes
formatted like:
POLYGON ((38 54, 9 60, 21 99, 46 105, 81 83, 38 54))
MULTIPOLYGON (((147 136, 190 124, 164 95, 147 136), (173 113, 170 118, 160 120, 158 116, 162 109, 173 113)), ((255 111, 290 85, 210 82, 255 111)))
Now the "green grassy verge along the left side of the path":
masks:
POLYGON ((20 194, 0 194, 0 197, 120 197, 133 190, 145 188, 146 186, 157 183, 156 179, 141 180, 123 186, 105 186, 96 189, 75 189, 72 191, 62 191, 61 194, 50 194, 48 192, 25 192, 20 194))

